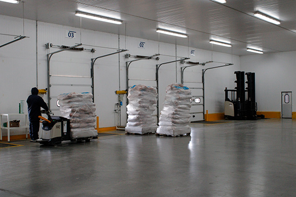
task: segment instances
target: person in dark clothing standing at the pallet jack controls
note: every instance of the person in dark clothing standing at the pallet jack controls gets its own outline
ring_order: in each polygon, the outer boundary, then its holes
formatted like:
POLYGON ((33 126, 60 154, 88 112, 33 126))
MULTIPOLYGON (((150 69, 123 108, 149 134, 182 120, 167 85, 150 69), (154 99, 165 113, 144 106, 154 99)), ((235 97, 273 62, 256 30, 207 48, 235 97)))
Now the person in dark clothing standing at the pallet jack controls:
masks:
POLYGON ((38 131, 40 127, 40 122, 38 116, 41 116, 41 109, 45 109, 48 111, 47 104, 44 100, 38 96, 38 89, 32 88, 31 93, 27 99, 28 103, 28 114, 29 114, 29 121, 30 121, 30 137, 32 142, 41 141, 38 137, 38 131))

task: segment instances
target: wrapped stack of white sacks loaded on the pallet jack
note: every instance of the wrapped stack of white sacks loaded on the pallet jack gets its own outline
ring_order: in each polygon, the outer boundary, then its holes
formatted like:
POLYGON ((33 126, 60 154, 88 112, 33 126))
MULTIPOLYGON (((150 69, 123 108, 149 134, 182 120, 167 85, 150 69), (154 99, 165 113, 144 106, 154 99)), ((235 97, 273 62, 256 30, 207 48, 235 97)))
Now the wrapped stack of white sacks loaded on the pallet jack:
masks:
POLYGON ((62 115, 70 119, 71 138, 95 137, 96 108, 90 93, 68 93, 58 96, 62 115))

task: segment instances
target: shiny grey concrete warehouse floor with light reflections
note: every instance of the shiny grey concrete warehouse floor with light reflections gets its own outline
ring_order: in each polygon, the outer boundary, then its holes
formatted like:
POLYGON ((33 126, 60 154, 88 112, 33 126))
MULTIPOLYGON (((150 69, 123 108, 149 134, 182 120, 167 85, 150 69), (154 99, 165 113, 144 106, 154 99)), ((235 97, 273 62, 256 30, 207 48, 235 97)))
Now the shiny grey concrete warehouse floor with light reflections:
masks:
MULTIPOLYGON (((0 197, 296 197, 296 120, 0 149, 0 197)), ((120 132, 120 131, 119 131, 120 132)))

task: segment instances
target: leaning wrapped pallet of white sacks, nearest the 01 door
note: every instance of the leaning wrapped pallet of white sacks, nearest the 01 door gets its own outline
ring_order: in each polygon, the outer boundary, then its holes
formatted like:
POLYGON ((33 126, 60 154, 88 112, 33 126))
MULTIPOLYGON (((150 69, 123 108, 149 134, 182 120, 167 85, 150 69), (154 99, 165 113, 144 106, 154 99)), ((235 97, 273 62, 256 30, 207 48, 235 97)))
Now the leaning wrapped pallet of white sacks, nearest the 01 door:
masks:
POLYGON ((191 91, 186 86, 179 83, 167 86, 157 134, 177 136, 191 132, 189 127, 190 99, 191 91))

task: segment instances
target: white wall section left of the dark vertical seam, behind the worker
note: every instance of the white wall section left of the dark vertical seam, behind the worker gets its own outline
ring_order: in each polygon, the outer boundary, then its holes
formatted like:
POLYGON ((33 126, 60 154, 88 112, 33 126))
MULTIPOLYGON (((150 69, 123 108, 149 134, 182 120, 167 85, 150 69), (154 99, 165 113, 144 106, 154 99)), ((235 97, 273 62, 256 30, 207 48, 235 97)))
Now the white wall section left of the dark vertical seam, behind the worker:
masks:
MULTIPOLYGON (((25 20, 24 38, 0 48, 0 113, 18 113, 20 100, 27 100, 36 85, 35 22, 25 20)), ((23 20, 1 16, 0 33, 23 34, 23 20), (7 28, 9 26, 9 28, 7 28)), ((0 45, 14 40, 14 36, 0 35, 0 45)))

